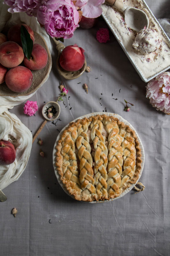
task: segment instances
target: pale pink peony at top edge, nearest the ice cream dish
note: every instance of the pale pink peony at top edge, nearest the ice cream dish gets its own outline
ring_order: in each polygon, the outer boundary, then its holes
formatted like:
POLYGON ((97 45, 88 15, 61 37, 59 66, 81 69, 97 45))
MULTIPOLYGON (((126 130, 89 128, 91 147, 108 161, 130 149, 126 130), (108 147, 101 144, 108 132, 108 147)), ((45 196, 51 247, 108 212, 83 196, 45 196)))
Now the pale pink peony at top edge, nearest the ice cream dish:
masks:
POLYGON ((86 18, 97 18, 102 14, 101 4, 105 0, 77 0, 75 5, 83 12, 86 18))

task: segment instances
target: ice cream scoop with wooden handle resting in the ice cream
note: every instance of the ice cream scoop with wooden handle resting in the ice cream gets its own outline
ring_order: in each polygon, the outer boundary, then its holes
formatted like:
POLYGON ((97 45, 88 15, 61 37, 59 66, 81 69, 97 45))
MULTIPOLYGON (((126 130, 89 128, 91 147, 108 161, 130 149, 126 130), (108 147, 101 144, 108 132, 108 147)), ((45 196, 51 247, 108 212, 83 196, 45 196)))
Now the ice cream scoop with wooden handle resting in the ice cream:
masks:
POLYGON ((124 20, 129 28, 137 32, 144 27, 148 28, 149 19, 144 11, 123 4, 120 0, 106 0, 105 3, 124 13, 124 20))

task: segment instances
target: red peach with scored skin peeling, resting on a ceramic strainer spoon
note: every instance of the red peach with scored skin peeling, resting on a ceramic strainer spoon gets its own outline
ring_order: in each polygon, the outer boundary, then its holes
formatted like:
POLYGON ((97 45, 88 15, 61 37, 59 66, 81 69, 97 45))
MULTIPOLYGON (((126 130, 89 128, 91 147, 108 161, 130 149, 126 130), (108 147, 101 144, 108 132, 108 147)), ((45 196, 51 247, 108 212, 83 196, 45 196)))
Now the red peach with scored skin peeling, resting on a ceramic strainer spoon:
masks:
POLYGON ((84 52, 77 44, 66 46, 60 55, 60 66, 67 71, 78 71, 85 63, 84 52))

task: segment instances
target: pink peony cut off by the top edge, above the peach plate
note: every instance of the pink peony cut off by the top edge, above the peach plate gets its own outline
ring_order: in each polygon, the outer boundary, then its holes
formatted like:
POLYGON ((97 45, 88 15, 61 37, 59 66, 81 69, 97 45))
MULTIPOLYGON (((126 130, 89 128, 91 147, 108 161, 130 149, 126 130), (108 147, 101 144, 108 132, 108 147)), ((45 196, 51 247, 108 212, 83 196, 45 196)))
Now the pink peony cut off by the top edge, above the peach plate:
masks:
POLYGON ((30 15, 32 12, 36 14, 36 10, 39 8, 41 2, 41 0, 4 0, 3 3, 11 6, 8 12, 26 12, 30 15))

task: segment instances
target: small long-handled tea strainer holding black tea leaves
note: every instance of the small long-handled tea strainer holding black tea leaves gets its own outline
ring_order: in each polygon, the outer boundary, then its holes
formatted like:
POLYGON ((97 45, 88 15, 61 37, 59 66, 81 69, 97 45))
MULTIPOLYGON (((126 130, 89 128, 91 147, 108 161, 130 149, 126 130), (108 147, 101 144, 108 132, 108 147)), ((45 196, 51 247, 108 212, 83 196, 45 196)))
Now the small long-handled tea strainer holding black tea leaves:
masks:
MULTIPOLYGON (((60 96, 58 97, 57 101, 59 100, 60 96)), ((44 128, 44 126, 46 125, 47 121, 54 121, 57 117, 59 117, 60 115, 60 105, 57 103, 57 101, 49 101, 47 102, 43 108, 42 108, 42 115, 45 118, 44 122, 41 124, 40 128, 38 129, 38 131, 35 133, 34 137, 33 137, 33 142, 34 140, 37 138, 38 134, 42 131, 42 129, 44 128), (47 115, 48 109, 49 108, 55 108, 56 113, 53 115, 52 118, 49 118, 47 115)))

